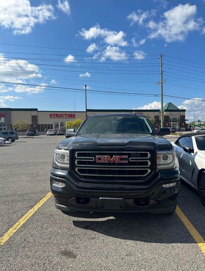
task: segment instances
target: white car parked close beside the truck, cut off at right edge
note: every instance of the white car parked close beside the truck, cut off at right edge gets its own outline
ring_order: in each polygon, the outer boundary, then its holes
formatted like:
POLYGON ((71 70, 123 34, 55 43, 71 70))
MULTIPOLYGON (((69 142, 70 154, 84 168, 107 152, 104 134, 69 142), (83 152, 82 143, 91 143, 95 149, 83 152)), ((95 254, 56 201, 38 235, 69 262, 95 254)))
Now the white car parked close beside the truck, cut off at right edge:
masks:
POLYGON ((205 133, 187 133, 172 143, 179 161, 180 178, 199 192, 205 206, 205 133))

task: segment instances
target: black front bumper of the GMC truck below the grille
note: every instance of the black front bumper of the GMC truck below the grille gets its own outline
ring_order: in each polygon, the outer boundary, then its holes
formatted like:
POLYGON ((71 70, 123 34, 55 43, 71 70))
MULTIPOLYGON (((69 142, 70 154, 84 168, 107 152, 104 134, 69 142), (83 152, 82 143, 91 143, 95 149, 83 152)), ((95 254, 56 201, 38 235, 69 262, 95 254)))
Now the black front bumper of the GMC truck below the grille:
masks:
POLYGON ((50 183, 55 206, 60 210, 150 212, 151 214, 175 211, 180 186, 178 170, 166 172, 164 176, 162 172, 158 173, 149 186, 125 185, 123 189, 123 185, 118 185, 117 188, 109 184, 82 184, 74 180, 68 171, 53 168, 50 183), (65 187, 54 185, 54 180, 65 183, 65 187), (173 182, 176 184, 170 188, 162 186, 173 182))

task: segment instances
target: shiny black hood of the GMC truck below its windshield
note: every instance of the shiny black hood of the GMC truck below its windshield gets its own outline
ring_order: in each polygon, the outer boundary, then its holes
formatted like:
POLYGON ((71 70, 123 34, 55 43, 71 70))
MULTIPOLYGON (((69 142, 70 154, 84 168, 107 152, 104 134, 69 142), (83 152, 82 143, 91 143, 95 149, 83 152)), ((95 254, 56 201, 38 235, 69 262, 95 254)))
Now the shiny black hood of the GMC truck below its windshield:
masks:
POLYGON ((60 142, 58 149, 172 149, 172 144, 158 135, 150 134, 85 134, 60 142))

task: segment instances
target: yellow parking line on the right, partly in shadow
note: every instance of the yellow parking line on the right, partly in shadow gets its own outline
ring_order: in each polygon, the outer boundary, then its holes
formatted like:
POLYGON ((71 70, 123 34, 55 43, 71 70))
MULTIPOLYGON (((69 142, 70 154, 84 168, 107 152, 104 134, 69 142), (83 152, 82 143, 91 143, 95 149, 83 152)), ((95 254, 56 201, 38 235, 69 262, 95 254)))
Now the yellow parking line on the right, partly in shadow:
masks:
POLYGON ((202 236, 198 233, 198 231, 195 229, 195 227, 192 225, 192 223, 189 221, 189 219, 183 214, 182 210, 179 208, 179 206, 176 206, 176 214, 180 218, 180 220, 183 222, 185 227, 189 230, 189 233, 196 241, 197 245, 200 247, 202 253, 205 255, 205 241, 203 240, 202 236))

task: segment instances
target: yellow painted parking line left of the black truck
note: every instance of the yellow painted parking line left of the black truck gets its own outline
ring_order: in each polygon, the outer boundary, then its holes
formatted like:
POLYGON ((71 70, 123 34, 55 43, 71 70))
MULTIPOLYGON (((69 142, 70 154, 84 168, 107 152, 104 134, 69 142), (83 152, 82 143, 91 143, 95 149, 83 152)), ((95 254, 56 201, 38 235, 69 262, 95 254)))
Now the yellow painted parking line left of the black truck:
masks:
POLYGON ((17 229, 19 229, 20 226, 22 226, 33 214, 35 211, 37 211, 40 206, 42 206, 50 197, 52 193, 49 192, 42 200, 40 200, 30 211, 27 212, 25 216, 23 216, 18 222, 13 225, 12 228, 10 228, 7 233, 0 238, 0 247, 16 232, 17 229))

